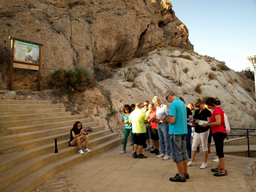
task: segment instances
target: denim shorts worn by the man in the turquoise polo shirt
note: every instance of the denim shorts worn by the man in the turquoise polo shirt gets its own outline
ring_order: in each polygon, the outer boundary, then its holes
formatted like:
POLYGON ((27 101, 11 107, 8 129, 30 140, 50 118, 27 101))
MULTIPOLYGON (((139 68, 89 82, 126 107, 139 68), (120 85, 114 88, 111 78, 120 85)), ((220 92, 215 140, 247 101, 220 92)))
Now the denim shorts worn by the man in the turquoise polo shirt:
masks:
POLYGON ((186 150, 186 134, 170 135, 170 146, 172 150, 172 159, 174 162, 183 162, 188 159, 186 150))

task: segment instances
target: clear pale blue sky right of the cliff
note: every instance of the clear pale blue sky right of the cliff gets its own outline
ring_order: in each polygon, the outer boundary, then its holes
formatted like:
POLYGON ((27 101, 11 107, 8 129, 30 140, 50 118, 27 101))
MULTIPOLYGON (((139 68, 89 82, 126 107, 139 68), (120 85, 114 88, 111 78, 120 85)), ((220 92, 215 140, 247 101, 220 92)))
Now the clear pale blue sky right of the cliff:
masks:
POLYGON ((253 70, 256 55, 256 0, 170 0, 188 28, 194 51, 226 62, 234 71, 253 70))

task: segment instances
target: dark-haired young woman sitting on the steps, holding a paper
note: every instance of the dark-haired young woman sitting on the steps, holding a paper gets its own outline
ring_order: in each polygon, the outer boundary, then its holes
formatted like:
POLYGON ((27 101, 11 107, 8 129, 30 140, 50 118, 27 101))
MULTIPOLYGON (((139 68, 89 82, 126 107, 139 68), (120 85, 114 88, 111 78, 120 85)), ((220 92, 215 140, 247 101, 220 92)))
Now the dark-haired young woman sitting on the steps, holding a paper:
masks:
POLYGON ((70 130, 70 146, 78 146, 79 154, 84 154, 84 152, 90 152, 91 150, 87 148, 89 136, 86 129, 82 127, 82 123, 79 121, 75 122, 73 128, 70 130), (83 134, 82 137, 80 137, 83 134), (81 148, 81 144, 84 142, 84 152, 81 148))

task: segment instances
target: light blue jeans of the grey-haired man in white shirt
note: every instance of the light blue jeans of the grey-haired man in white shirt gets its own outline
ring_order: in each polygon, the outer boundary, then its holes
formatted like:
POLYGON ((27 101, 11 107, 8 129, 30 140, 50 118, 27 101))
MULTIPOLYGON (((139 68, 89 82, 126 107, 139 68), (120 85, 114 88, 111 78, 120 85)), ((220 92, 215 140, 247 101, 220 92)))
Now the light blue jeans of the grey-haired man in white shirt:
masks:
POLYGON ((171 146, 170 146, 170 140, 169 140, 169 125, 158 124, 157 132, 160 140, 162 154, 167 153, 167 155, 171 155, 171 146), (166 148, 167 150, 165 150, 166 148))

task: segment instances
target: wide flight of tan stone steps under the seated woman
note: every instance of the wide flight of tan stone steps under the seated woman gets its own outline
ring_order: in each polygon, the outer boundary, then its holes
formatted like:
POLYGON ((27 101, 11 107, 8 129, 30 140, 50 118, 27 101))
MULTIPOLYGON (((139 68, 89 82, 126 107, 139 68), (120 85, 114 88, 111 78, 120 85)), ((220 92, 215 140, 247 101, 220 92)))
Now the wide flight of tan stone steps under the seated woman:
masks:
POLYGON ((65 110, 51 101, 0 100, 0 191, 30 192, 54 174, 122 143, 123 138, 93 118, 65 110), (69 145, 76 121, 93 128, 88 144, 92 151, 83 155, 69 145))

